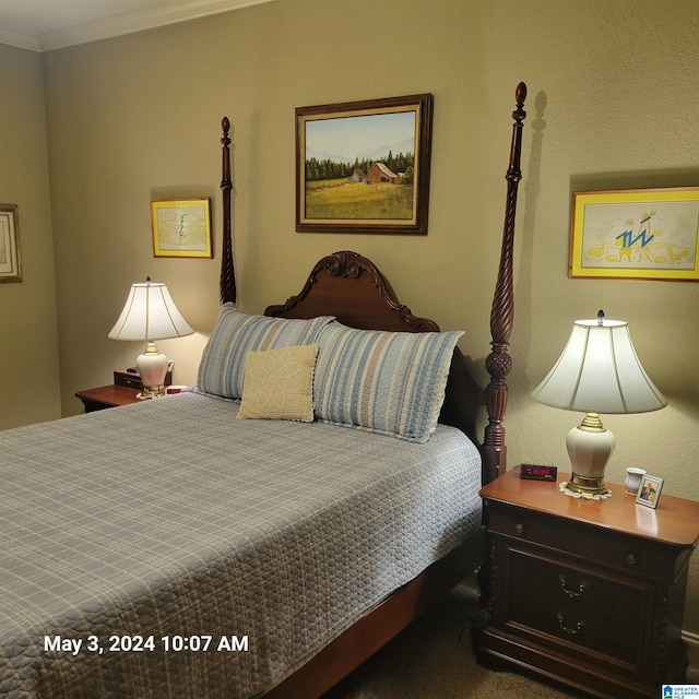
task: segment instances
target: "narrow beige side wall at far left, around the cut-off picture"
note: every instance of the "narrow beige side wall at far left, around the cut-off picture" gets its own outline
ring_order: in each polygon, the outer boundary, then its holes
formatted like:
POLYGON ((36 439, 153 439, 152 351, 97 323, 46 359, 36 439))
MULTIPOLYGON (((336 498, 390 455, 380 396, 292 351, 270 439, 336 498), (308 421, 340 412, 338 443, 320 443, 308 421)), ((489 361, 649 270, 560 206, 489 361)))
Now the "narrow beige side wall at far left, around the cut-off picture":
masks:
POLYGON ((60 417, 42 57, 0 45, 0 203, 16 204, 23 282, 0 284, 0 429, 60 417))

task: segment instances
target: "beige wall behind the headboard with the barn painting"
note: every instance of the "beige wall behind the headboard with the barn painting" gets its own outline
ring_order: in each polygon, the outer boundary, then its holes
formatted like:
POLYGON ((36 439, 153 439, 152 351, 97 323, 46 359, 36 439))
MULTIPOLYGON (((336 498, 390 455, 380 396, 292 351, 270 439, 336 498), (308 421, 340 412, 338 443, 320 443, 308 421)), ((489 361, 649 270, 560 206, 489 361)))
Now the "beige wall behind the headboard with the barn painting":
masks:
MULTIPOLYGON (((604 308, 630 322, 670 406, 605 422, 627 465, 699 499, 699 285, 567 277, 576 189, 699 185, 699 4, 674 0, 276 0, 46 56, 62 406, 110 381, 140 351, 107 340, 128 285, 168 283, 193 337, 162 343, 191 382, 215 317, 216 259, 155 260, 149 201, 212 196, 220 228, 220 121, 234 125, 240 306, 299 291, 322 254, 374 259, 401 300, 478 366, 502 227, 517 83, 529 84, 516 262, 510 464, 566 467, 578 416, 530 391, 573 319, 604 308), (294 108, 435 94, 427 237, 294 232, 294 108)), ((4 289, 0 289, 4 291, 4 289)), ((696 557, 697 558, 697 557, 696 557)), ((695 561, 686 625, 699 632, 695 561)))

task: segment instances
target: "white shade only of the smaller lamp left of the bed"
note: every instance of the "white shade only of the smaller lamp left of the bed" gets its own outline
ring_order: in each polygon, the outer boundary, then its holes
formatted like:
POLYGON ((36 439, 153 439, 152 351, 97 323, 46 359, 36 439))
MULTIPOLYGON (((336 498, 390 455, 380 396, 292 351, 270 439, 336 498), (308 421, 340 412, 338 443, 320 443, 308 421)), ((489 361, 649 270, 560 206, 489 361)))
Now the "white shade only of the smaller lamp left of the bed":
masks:
POLYGON ((111 340, 166 340, 191 335, 167 286, 150 280, 133 284, 121 316, 107 335, 111 340))

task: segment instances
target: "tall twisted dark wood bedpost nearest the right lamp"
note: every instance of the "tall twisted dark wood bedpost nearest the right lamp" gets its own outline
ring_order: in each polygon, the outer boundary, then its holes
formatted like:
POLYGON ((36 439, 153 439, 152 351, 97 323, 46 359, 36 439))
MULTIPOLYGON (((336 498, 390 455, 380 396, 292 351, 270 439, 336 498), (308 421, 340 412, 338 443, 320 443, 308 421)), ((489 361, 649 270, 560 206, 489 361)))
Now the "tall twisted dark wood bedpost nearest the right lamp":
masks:
POLYGON ((520 83, 516 91, 517 109, 512 112, 512 145, 507 170, 507 204, 505 210, 505 228, 500 266, 490 310, 490 335, 493 351, 485 366, 490 375, 490 382, 485 390, 485 405, 488 412, 488 425, 485 428, 483 452, 485 460, 484 474, 487 481, 497 478, 507 467, 507 447, 505 446, 505 427, 502 417, 507 407, 507 375, 512 368, 512 357, 508 354, 510 333, 514 320, 514 293, 512 285, 512 258, 514 249, 514 215, 517 211, 517 190, 522 179, 520 157, 522 153, 522 121, 526 117, 524 99, 526 85, 520 83))

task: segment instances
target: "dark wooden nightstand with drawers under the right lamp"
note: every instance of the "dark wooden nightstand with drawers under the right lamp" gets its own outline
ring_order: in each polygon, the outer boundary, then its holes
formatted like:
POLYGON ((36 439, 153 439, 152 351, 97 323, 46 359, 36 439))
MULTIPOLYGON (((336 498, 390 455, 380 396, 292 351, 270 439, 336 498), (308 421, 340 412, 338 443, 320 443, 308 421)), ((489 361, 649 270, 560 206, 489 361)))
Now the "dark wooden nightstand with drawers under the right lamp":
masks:
POLYGON ((699 502, 662 495, 652 509, 607 485, 606 500, 576 499, 517 467, 481 490, 490 540, 481 664, 514 663, 614 699, 684 682, 699 502))

